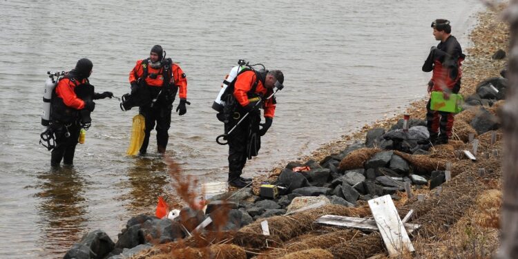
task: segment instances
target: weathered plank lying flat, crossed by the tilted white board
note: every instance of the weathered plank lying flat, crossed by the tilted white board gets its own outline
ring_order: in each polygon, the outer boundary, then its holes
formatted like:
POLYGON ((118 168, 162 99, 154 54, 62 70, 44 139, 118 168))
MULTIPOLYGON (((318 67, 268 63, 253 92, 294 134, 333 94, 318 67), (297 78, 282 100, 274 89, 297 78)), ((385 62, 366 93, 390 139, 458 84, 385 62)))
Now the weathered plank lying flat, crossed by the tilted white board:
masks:
MULTIPOLYGON (((360 229, 362 231, 367 232, 378 231, 376 221, 368 218, 351 218, 338 215, 323 215, 322 217, 316 219, 315 222, 319 224, 326 224, 336 227, 350 227, 353 229, 360 229)), ((421 227, 421 225, 419 224, 405 223, 404 225, 405 229, 407 229, 409 233, 412 233, 416 229, 419 229, 419 227, 421 227)))

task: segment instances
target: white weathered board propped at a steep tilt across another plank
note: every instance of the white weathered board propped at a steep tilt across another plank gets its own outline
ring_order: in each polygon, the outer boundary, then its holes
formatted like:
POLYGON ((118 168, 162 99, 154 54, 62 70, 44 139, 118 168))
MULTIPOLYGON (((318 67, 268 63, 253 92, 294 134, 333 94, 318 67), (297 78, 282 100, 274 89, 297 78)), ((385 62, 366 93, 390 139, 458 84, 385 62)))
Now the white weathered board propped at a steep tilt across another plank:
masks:
POLYGON ((405 250, 415 251, 390 195, 369 200, 369 207, 389 256, 400 256, 405 250))

